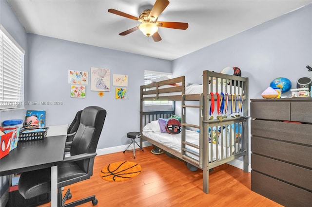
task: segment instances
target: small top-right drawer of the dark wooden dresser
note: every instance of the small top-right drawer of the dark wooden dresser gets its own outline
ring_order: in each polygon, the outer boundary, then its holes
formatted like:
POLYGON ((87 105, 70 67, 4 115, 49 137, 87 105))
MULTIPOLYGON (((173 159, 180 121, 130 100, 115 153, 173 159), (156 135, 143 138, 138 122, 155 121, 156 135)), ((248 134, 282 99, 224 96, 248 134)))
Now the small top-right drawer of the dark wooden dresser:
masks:
POLYGON ((291 121, 312 122, 312 102, 292 102, 291 121))

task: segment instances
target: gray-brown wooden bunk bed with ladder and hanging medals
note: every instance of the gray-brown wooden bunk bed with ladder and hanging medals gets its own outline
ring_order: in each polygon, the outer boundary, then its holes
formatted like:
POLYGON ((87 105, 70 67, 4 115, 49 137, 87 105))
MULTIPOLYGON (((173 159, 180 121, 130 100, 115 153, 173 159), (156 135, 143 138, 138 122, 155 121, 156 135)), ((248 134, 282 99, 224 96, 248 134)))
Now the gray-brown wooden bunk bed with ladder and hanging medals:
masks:
POLYGON ((248 172, 248 78, 205 70, 203 84, 197 87, 202 87, 200 92, 189 94, 184 76, 141 86, 140 146, 142 147, 143 140, 147 140, 187 164, 203 170, 203 191, 208 193, 210 169, 243 156, 244 171, 248 172), (168 85, 176 86, 167 87, 168 85), (175 104, 173 110, 169 111, 143 111, 144 101, 155 100, 181 103, 182 130, 180 134, 174 135, 180 139, 178 149, 161 143, 160 139, 152 138, 144 130, 153 121, 176 114, 175 104), (225 108, 222 108, 223 113, 219 110, 220 102, 223 106, 226 103, 226 107, 230 107, 232 112, 235 110, 236 114, 225 117, 225 108), (213 105, 218 106, 214 113, 211 110, 213 105), (199 110, 197 124, 189 123, 186 115, 189 110, 194 113, 194 108, 199 110), (212 118, 216 114, 219 119, 212 118), (194 129, 198 130, 196 141, 189 141, 190 129, 193 130, 192 134, 194 129))

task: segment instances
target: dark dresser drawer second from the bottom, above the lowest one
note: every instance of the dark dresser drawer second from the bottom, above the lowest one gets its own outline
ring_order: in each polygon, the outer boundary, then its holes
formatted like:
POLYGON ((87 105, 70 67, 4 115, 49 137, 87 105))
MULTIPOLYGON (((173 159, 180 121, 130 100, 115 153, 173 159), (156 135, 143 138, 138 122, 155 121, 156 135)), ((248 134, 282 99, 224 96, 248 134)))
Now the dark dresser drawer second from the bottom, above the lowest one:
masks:
POLYGON ((312 170, 252 154, 252 170, 312 191, 312 170))

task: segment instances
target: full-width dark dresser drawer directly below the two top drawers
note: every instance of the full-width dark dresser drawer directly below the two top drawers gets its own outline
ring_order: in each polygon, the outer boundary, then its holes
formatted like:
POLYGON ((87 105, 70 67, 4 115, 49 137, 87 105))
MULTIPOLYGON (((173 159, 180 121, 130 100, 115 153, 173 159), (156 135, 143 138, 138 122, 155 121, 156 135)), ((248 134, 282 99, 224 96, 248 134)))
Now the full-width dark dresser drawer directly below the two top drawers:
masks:
POLYGON ((312 124, 252 120, 251 134, 254 137, 273 138, 312 146, 312 124))

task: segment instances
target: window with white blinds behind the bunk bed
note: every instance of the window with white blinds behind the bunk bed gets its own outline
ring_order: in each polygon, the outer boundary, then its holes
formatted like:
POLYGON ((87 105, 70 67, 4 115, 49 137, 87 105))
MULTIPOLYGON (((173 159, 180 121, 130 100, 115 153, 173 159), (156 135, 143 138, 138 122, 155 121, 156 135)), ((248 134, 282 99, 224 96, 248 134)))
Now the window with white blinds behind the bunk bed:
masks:
MULTIPOLYGON (((152 83, 156 78, 171 78, 171 76, 172 73, 144 70, 144 85, 152 83)), ((172 103, 172 101, 145 101, 144 105, 172 105, 172 103)))

